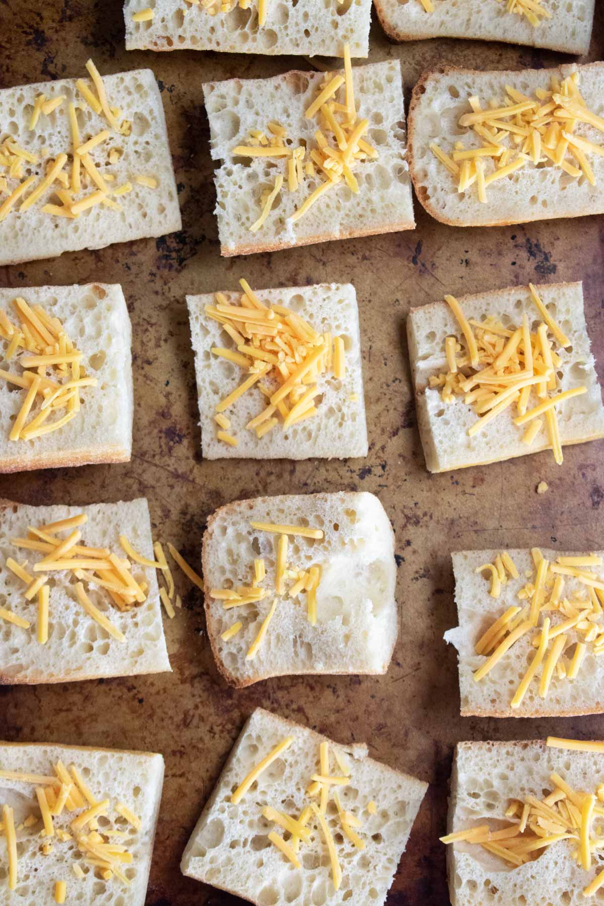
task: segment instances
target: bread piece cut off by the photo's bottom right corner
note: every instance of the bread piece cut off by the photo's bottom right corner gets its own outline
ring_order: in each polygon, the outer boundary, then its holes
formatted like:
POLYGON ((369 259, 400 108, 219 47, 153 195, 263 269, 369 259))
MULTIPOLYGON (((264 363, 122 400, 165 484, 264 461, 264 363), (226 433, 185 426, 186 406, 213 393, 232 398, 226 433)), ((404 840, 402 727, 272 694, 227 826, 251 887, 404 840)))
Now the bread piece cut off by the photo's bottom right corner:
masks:
MULTIPOLYGON (((510 824, 504 813, 511 801, 542 800, 555 772, 574 790, 595 792, 604 782, 604 756, 570 752, 540 740, 460 742, 455 747, 447 833, 478 824, 499 830, 510 824)), ((513 820, 513 819, 512 819, 513 820)), ((559 840, 533 862, 518 867, 471 843, 446 847, 449 893, 453 906, 580 906, 600 902, 583 890, 602 868, 594 853, 590 872, 575 862, 578 840, 559 840)))

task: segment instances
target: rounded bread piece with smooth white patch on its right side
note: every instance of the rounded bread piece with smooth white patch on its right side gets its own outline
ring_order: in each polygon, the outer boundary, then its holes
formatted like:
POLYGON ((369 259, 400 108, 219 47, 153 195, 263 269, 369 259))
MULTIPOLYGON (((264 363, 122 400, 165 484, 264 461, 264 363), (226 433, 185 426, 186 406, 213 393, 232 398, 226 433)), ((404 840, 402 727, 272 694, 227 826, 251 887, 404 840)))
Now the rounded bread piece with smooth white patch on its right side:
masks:
MULTIPOLYGON (((385 673, 397 640, 394 535, 378 497, 361 493, 258 497, 222 506, 204 534, 207 635, 218 669, 241 688, 260 679, 296 673, 385 673), (289 569, 321 567, 317 622, 307 614, 307 594, 276 595, 279 535, 250 522, 320 528, 321 541, 291 535, 289 569), (264 559, 263 601, 225 610, 211 589, 249 585, 254 558, 264 559), (273 620, 253 660, 245 655, 277 600, 273 620), (243 622, 234 638, 221 633, 243 622)), ((292 587, 293 579, 285 583, 292 587)))

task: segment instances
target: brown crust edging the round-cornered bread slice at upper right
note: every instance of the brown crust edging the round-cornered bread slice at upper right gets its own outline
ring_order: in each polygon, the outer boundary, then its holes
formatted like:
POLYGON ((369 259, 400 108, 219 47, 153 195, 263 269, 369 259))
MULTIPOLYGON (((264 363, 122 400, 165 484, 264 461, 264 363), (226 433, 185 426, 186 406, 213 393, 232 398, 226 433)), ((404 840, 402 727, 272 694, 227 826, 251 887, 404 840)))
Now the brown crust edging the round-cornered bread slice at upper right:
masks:
MULTIPOLYGON (((583 70, 588 70, 591 68, 602 69, 604 68, 604 62, 599 63, 582 63, 575 67, 578 71, 582 72, 583 70)), ((555 67, 551 68, 552 72, 555 72, 555 67)), ((413 87, 411 92, 411 101, 409 102, 409 112, 407 115, 407 163, 409 166, 409 173, 411 175, 411 181, 413 183, 413 188, 417 196, 417 200, 422 207, 427 210, 427 213, 430 217, 434 217, 435 220, 438 220, 440 223, 446 224, 447 226, 515 226, 517 224, 526 224, 532 223, 535 220, 557 220, 561 217, 588 217, 593 214, 602 214, 604 213, 604 198, 602 199, 601 207, 590 209, 590 210, 581 210, 581 211, 570 211, 558 210, 555 213, 551 208, 535 213, 534 217, 514 217, 513 220, 505 219, 494 219, 489 221, 474 221, 474 220, 460 220, 455 217, 445 217, 439 210, 430 204, 428 198, 426 198, 427 191, 426 188, 421 184, 419 178, 417 177, 417 170, 415 164, 415 158, 413 154, 414 149, 414 140, 415 140, 415 128, 416 128, 416 115, 417 108, 421 101, 421 96, 425 92, 426 84, 430 79, 435 78, 440 75, 449 75, 452 76, 475 76, 475 75, 493 75, 497 78, 503 78, 503 76, 508 77, 508 81, 512 82, 514 79, 518 80, 523 76, 531 75, 533 72, 544 72, 543 70, 534 70, 534 69, 522 69, 522 70, 506 70, 503 72, 499 71, 488 71, 482 72, 476 69, 464 69, 461 66, 439 66, 435 69, 428 69, 419 76, 417 83, 413 87)), ((547 70, 545 70, 547 72, 547 70)))

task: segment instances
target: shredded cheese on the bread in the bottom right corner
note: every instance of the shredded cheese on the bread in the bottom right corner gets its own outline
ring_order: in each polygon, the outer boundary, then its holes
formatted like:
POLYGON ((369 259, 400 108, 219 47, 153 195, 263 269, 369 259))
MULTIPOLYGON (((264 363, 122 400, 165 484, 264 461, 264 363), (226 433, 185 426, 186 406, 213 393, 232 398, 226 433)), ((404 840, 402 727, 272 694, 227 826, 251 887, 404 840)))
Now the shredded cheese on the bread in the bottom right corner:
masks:
MULTIPOLYGON (((602 743, 549 737, 547 744, 570 751, 604 753, 602 743)), ((551 843, 570 840, 572 858, 589 872, 593 856, 599 856, 604 848, 604 784, 593 793, 573 790, 555 771, 550 775, 550 783, 551 793, 542 798, 526 795, 510 802, 504 813, 512 822, 507 827, 492 831, 489 824, 478 824, 441 837, 441 843, 473 843, 508 865, 518 867, 538 858, 551 843)), ((583 889, 583 895, 593 896, 603 884, 604 871, 583 889)))

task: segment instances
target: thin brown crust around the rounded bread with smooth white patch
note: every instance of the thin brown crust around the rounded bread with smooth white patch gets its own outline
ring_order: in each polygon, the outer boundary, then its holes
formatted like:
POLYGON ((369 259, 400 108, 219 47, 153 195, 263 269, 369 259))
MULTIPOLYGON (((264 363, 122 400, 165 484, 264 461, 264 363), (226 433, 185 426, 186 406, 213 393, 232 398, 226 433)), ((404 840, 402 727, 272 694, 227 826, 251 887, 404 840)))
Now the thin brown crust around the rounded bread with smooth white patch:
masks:
MULTIPOLYGON (((346 493, 346 492, 342 492, 346 493)), ((287 496, 287 495, 286 495, 287 496)), ((312 497, 321 497, 323 494, 306 494, 303 495, 309 498, 312 497)), ((264 500, 270 501, 273 497, 248 497, 246 500, 235 500, 233 503, 225 504, 225 506, 220 506, 218 509, 208 517, 206 524, 206 531, 204 532, 204 538, 201 545, 201 567, 202 575, 204 576, 204 610, 206 612, 206 631, 207 638, 210 642, 210 648, 212 649, 212 654, 214 655, 214 660, 216 661, 216 667, 218 672, 226 680, 229 686, 233 686, 235 689, 246 689, 248 686, 254 686, 257 682, 263 682, 264 679, 272 679, 273 677, 283 677, 283 676, 383 676, 388 672, 388 667, 390 666, 390 661, 392 660, 392 655, 394 654, 394 649, 397 643, 395 639, 392 648, 387 652, 387 657, 384 660, 383 670, 292 670, 288 672, 285 670, 279 670, 276 673, 267 673, 263 676, 259 676, 256 679, 236 679, 236 677, 225 667, 225 664, 220 658, 218 653, 218 648, 216 646, 216 624, 212 620, 212 615, 210 611, 210 597, 209 597, 209 587, 206 584, 206 574, 209 572, 209 557, 208 557, 208 545, 213 535, 213 526, 216 522, 218 516, 224 514, 230 515, 231 513, 239 512, 242 510, 242 507, 245 504, 257 504, 264 500)), ((389 520, 388 520, 389 523, 389 520)), ((390 532, 392 533, 392 538, 394 539, 394 530, 392 524, 390 525, 390 532)), ((398 638, 398 633, 397 633, 398 638)))

